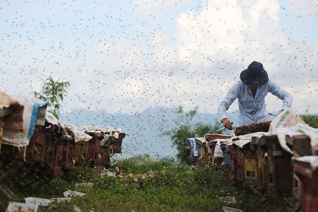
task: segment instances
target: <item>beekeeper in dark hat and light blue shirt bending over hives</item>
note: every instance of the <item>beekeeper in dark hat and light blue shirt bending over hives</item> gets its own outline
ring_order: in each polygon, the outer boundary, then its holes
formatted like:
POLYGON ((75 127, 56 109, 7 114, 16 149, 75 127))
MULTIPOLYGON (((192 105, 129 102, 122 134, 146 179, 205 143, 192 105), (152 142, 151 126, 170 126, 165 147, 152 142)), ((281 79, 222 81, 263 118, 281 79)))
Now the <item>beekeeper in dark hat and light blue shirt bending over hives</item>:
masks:
POLYGON ((220 103, 218 115, 223 126, 233 130, 233 125, 227 117, 227 110, 234 100, 239 101, 239 125, 269 121, 266 110, 265 96, 270 92, 283 100, 282 112, 292 106, 292 95, 268 78, 263 65, 253 61, 247 69, 241 71, 240 80, 228 91, 220 103))

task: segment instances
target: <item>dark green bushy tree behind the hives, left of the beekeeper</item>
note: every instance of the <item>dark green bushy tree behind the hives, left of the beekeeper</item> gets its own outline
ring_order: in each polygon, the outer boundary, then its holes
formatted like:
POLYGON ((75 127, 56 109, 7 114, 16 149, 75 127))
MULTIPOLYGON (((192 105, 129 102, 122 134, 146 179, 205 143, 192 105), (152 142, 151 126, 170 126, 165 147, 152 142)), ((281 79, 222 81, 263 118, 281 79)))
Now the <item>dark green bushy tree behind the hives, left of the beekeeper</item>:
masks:
MULTIPOLYGON (((186 142, 189 138, 204 137, 206 134, 215 133, 220 129, 221 123, 216 121, 212 127, 210 124, 192 123, 193 117, 197 113, 197 108, 185 113, 182 106, 177 111, 178 119, 175 121, 176 126, 167 132, 172 139, 173 145, 176 146, 178 153, 176 158, 181 162, 190 163, 190 150, 186 148, 186 142)), ((220 132, 221 133, 221 132, 220 132)))

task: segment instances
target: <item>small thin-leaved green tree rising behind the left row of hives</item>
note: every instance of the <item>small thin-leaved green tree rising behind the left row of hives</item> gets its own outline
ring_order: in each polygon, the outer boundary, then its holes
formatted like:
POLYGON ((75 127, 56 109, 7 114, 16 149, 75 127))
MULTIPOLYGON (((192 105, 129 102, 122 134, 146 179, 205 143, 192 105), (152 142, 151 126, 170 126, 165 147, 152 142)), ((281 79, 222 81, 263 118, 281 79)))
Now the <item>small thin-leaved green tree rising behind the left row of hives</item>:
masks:
POLYGON ((42 83, 40 92, 33 91, 34 97, 41 99, 48 104, 48 107, 53 109, 49 110, 57 119, 58 113, 61 110, 61 102, 67 93, 66 89, 70 86, 70 82, 54 81, 52 77, 47 78, 42 83))

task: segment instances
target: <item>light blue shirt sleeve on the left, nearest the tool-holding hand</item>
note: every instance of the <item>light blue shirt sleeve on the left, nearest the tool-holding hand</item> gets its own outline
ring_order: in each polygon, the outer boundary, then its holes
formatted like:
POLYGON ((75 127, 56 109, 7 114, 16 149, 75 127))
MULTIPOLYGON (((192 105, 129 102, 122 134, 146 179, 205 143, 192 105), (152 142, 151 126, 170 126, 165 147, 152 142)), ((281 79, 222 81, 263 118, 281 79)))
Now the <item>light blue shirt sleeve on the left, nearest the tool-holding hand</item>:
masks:
POLYGON ((232 103, 238 98, 239 96, 239 89, 238 89, 238 83, 235 83, 230 90, 228 91, 227 95, 224 97, 222 102, 220 102, 218 107, 218 115, 220 121, 222 119, 228 118, 227 116, 227 110, 230 108, 232 103))

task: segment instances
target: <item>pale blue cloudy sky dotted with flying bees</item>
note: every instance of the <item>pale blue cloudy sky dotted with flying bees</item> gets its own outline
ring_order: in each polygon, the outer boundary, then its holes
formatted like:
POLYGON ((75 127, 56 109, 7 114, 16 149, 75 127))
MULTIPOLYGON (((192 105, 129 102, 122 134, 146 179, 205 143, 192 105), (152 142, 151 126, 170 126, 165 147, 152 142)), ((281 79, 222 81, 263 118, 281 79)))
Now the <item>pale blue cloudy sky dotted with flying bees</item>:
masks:
POLYGON ((62 113, 215 114, 258 61, 297 113, 317 113, 317 23, 318 0, 1 0, 0 90, 31 95, 51 76, 71 83, 62 113))

